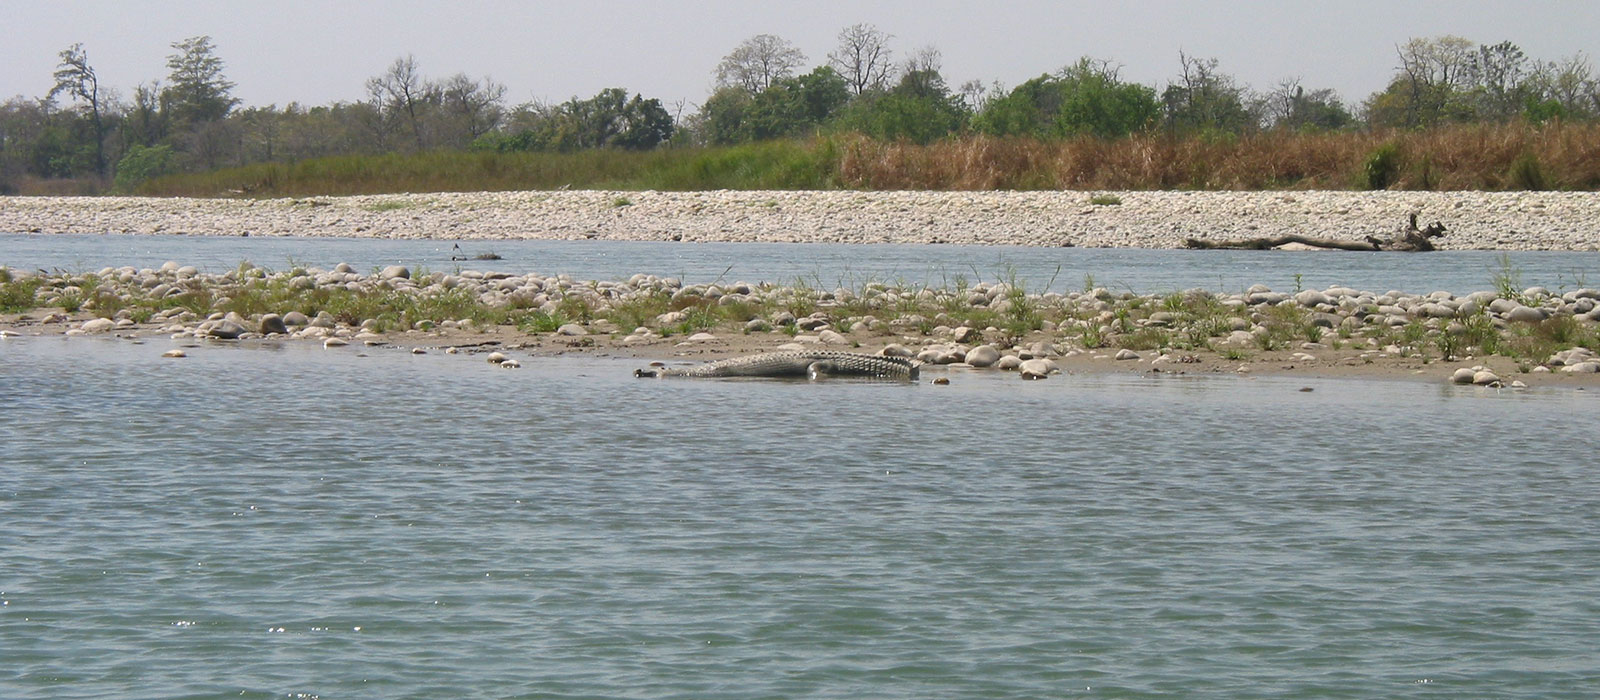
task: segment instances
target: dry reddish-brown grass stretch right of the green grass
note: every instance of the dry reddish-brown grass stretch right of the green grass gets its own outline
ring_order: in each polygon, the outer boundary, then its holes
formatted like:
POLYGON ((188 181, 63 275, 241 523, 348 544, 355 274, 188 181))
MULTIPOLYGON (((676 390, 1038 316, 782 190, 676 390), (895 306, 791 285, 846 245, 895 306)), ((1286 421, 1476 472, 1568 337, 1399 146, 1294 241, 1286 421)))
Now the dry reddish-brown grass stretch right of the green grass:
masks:
POLYGON ((854 189, 1259 190, 1360 189, 1384 144, 1392 189, 1526 189, 1531 158, 1549 189, 1600 187, 1600 125, 1464 125, 1430 131, 1285 133, 1242 137, 1141 134, 1117 141, 970 136, 930 145, 845 139, 838 182, 854 189))

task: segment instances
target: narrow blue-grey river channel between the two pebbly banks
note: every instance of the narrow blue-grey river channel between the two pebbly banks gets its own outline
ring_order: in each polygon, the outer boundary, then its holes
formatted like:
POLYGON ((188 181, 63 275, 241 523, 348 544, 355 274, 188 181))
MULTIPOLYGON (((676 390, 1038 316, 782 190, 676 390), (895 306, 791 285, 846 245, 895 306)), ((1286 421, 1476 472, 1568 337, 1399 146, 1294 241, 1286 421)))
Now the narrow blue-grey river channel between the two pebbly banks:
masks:
POLYGON ((1141 294, 1205 288, 1238 292, 1251 284, 1291 291, 1350 286, 1363 291, 1466 294, 1494 289, 1514 272, 1522 284, 1574 289, 1600 284, 1600 253, 1565 251, 1174 251, 950 245, 653 243, 653 241, 427 241, 373 238, 227 238, 141 235, 0 233, 0 265, 85 272, 160 267, 166 261, 226 272, 250 261, 272 270, 349 262, 427 270, 568 273, 578 280, 627 280, 635 273, 688 283, 744 280, 832 289, 867 281, 955 286, 1016 278, 1029 291, 1070 291, 1086 283, 1141 294), (456 249, 454 246, 461 246, 456 249), (451 261, 493 253, 499 261, 451 261), (1507 268, 1509 264, 1509 268, 1507 268))

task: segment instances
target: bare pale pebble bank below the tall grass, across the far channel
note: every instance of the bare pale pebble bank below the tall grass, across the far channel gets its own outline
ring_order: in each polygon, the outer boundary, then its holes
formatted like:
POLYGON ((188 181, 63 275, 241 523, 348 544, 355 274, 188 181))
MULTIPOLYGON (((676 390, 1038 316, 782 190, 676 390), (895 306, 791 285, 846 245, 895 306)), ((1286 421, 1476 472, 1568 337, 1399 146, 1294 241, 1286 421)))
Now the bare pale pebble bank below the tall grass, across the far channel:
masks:
POLYGON ((1390 237, 1442 249, 1600 249, 1592 192, 474 192, 280 200, 0 197, 0 232, 426 240, 1182 248, 1390 237))

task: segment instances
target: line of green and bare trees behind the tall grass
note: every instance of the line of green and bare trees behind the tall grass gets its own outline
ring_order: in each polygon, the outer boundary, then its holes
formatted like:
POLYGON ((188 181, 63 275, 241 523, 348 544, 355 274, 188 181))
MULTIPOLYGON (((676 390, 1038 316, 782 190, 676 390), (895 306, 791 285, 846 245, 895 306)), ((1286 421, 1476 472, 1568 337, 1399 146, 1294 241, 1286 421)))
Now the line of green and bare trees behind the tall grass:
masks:
POLYGON ((1258 91, 1216 59, 1184 53, 1162 86, 1123 80, 1112 61, 1082 58, 1014 88, 976 80, 952 88, 936 48, 898 56, 893 38, 869 24, 845 27, 813 66, 781 37, 750 37, 715 66, 715 89, 693 110, 626 88, 512 105, 502 83, 466 74, 432 78, 413 56, 368 78, 362 99, 242 107, 210 37, 174 42, 165 82, 123 96, 99 85, 86 48, 72 45, 59 54, 48 94, 0 104, 0 193, 51 184, 128 190, 184 171, 430 150, 650 150, 835 133, 909 144, 970 134, 1226 139, 1600 120, 1600 82, 1586 56, 1541 61, 1510 42, 1411 38, 1395 48, 1386 88, 1349 104, 1298 78, 1258 91))

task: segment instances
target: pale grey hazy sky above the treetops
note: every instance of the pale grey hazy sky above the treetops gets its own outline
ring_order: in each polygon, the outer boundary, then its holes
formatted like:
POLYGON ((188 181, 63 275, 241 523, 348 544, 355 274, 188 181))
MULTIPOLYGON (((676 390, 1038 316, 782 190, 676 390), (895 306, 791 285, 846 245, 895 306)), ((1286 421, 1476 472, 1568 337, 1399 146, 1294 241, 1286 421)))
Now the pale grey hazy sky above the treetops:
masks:
POLYGON ((869 22, 896 56, 944 54, 952 88, 1014 86, 1078 56, 1162 88, 1179 50, 1216 58, 1256 89, 1298 77, 1360 102, 1395 69, 1395 45, 1454 34, 1510 40, 1531 58, 1600 54, 1595 0, 1278 2, 517 2, 517 0, 0 0, 0 99, 50 91, 58 53, 82 42, 101 85, 125 97, 165 80, 171 43, 211 35, 246 105, 358 101, 368 77, 414 54, 424 75, 491 75, 510 102, 621 86, 690 109, 722 56, 757 34, 827 61, 838 30, 869 22))

